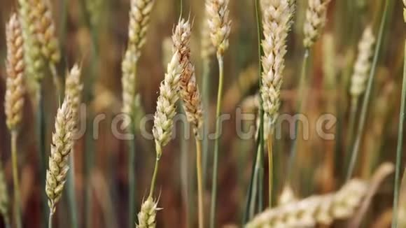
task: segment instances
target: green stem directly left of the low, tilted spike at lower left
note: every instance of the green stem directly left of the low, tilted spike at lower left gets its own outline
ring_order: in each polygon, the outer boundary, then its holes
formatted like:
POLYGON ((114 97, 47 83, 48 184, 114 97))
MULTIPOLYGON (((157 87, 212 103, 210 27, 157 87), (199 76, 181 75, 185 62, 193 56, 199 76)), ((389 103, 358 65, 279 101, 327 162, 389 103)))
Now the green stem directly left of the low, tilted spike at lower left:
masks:
MULTIPOLYGON (((36 135, 38 136, 38 156, 39 156, 39 171, 40 171, 40 183, 41 190, 45 190, 45 178, 46 178, 46 164, 48 162, 48 157, 45 155, 45 107, 43 102, 43 87, 41 84, 38 85, 37 91, 38 99, 38 115, 36 115, 36 135)), ((43 227, 46 227, 46 221, 48 220, 48 197, 45 191, 41 191, 41 201, 42 201, 42 215, 43 215, 43 227)))

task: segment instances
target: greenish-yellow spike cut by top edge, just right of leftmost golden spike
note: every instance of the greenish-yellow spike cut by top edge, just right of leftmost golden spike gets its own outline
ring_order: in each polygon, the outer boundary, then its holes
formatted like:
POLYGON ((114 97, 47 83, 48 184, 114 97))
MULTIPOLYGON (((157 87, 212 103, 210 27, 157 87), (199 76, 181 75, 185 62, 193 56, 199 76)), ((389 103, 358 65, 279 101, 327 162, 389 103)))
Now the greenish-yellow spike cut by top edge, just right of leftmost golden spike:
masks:
POLYGON ((20 22, 24 38, 24 52, 27 73, 38 82, 42 80, 45 62, 41 53, 41 43, 38 40, 38 28, 34 8, 29 0, 18 0, 20 3, 20 22))

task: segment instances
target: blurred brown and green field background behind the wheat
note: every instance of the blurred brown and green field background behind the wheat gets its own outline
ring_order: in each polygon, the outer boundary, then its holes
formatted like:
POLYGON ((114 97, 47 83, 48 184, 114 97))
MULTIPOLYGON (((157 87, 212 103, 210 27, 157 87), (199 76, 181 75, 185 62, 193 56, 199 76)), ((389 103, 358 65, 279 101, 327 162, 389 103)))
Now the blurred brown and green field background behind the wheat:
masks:
MULTIPOLYGON (((308 197, 337 190, 342 185, 346 129, 349 119, 349 78, 358 52, 357 45, 363 29, 371 24, 374 34, 384 8, 383 0, 333 0, 328 8, 328 22, 323 35, 311 51, 308 81, 311 83, 304 114, 315 120, 323 113, 332 113, 337 124, 332 129, 335 140, 324 141, 315 134, 311 124, 310 138, 300 141, 299 158, 294 165, 292 187, 297 197, 308 197)), ((168 52, 171 50, 172 29, 181 12, 181 1, 156 1, 148 29, 146 45, 138 67, 137 87, 141 104, 146 114, 155 112, 158 87, 163 79, 168 52)), ((55 0, 52 1, 53 16, 57 25, 62 61, 58 71, 62 75, 74 63, 83 66, 85 92, 83 102, 87 105, 87 117, 99 113, 106 119, 99 124, 98 138, 78 139, 75 145, 76 200, 80 227, 85 227, 85 204, 92 210, 92 227, 127 226, 127 142, 115 138, 111 132, 111 120, 121 108, 120 63, 127 45, 129 0, 55 0), (86 164, 90 161, 92 166, 86 164), (89 168, 91 167, 91 168, 89 168), (84 173, 89 169, 90 178, 84 173), (91 186, 90 199, 86 199, 85 187, 91 186)), ((302 26, 307 1, 297 1, 295 23, 288 36, 288 54, 283 79, 281 113, 295 113, 296 88, 304 48, 302 47, 302 26)), ((5 23, 18 8, 13 0, 0 2, 0 102, 5 91, 6 41, 5 23)), ((223 113, 232 118, 223 124, 218 177, 218 227, 239 225, 244 211, 253 157, 255 138, 241 139, 236 135, 235 110, 241 106, 246 113, 255 109, 244 107, 244 101, 258 92, 258 43, 253 1, 230 1, 232 31, 230 50, 225 53, 225 94, 223 113)), ((193 22, 191 40, 192 58, 197 67, 197 80, 202 85, 202 59, 200 42, 203 0, 183 0, 183 17, 193 22)), ((381 55, 374 81, 372 100, 368 109, 367 124, 356 175, 370 178, 373 171, 384 161, 395 161, 398 113, 402 79, 403 45, 405 24, 402 20, 402 1, 391 1, 388 13, 388 27, 384 34, 381 55)), ((218 83, 218 69, 215 59, 211 62, 209 75, 210 132, 214 131, 214 113, 218 83)), ((45 110, 47 125, 46 145, 50 145, 54 131, 57 102, 52 79, 45 78, 45 110)), ((39 157, 36 150, 34 94, 27 94, 23 129, 18 146, 20 159, 20 188, 24 227, 42 227, 43 207, 41 176, 38 170, 39 157)), ((82 121, 85 121, 85 116, 82 121)), ((244 122, 245 127, 255 121, 244 122)), ((178 124, 181 131, 183 126, 178 124)), ((151 131, 152 123, 147 129, 151 131)), ((275 151, 281 162, 277 164, 278 192, 286 180, 286 164, 292 140, 288 129, 282 130, 281 139, 276 141, 275 151)), ((0 106, 0 157, 3 163, 9 192, 12 175, 10 162, 10 136, 6 128, 3 106, 0 106)), ((208 165, 205 178, 205 207, 209 216, 211 190, 211 152, 209 141, 208 165)), ((48 155, 48 151, 46 154, 48 155)), ((155 145, 153 140, 137 136, 137 197, 141 202, 148 194, 153 171, 155 145)), ((265 170, 267 167, 265 166, 265 170)), ((195 178, 195 145, 193 138, 185 140, 176 136, 165 148, 157 180, 157 195, 160 195, 158 227, 197 227, 197 190, 195 178), (159 192, 158 192, 159 190, 159 192)), ((267 173, 265 172, 265 178, 267 173)), ((367 227, 387 227, 390 224, 393 191, 393 177, 379 188, 368 211, 367 227), (383 221, 383 222, 382 222, 383 221), (385 223, 386 221, 386 223, 385 223), (379 223, 382 222, 382 223, 379 223), (388 223, 389 222, 389 223, 388 223), (381 226, 383 225, 383 226, 381 226)), ((266 191, 265 191, 266 192, 266 191)), ((71 227, 67 210, 66 192, 57 205, 55 227, 71 227)), ((136 211, 139 211, 137 204, 136 211)))

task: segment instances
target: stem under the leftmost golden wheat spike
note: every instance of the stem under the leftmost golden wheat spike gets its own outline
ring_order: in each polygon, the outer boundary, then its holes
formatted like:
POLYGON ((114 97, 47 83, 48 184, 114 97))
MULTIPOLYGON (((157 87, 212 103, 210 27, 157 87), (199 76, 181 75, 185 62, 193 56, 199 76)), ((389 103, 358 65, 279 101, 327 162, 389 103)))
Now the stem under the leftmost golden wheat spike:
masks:
POLYGON ((21 228, 20 183, 18 181, 17 136, 18 136, 17 131, 15 131, 15 130, 11 131, 11 160, 13 163, 13 184, 14 184, 14 218, 15 218, 15 227, 21 228))

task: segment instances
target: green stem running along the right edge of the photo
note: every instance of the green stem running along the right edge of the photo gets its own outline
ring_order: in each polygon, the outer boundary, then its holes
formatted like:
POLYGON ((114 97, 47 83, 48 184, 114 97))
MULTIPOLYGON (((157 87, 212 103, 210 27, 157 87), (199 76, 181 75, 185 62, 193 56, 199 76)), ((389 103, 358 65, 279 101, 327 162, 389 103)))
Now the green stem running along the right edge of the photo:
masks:
POLYGON ((396 149, 395 187, 393 188, 392 228, 398 227, 400 169, 402 166, 403 127, 405 124, 405 115, 406 115, 406 104, 405 104, 406 103, 406 42, 405 42, 405 57, 404 57, 403 61, 404 61, 404 66, 403 66, 402 97, 400 100, 398 147, 396 149))

